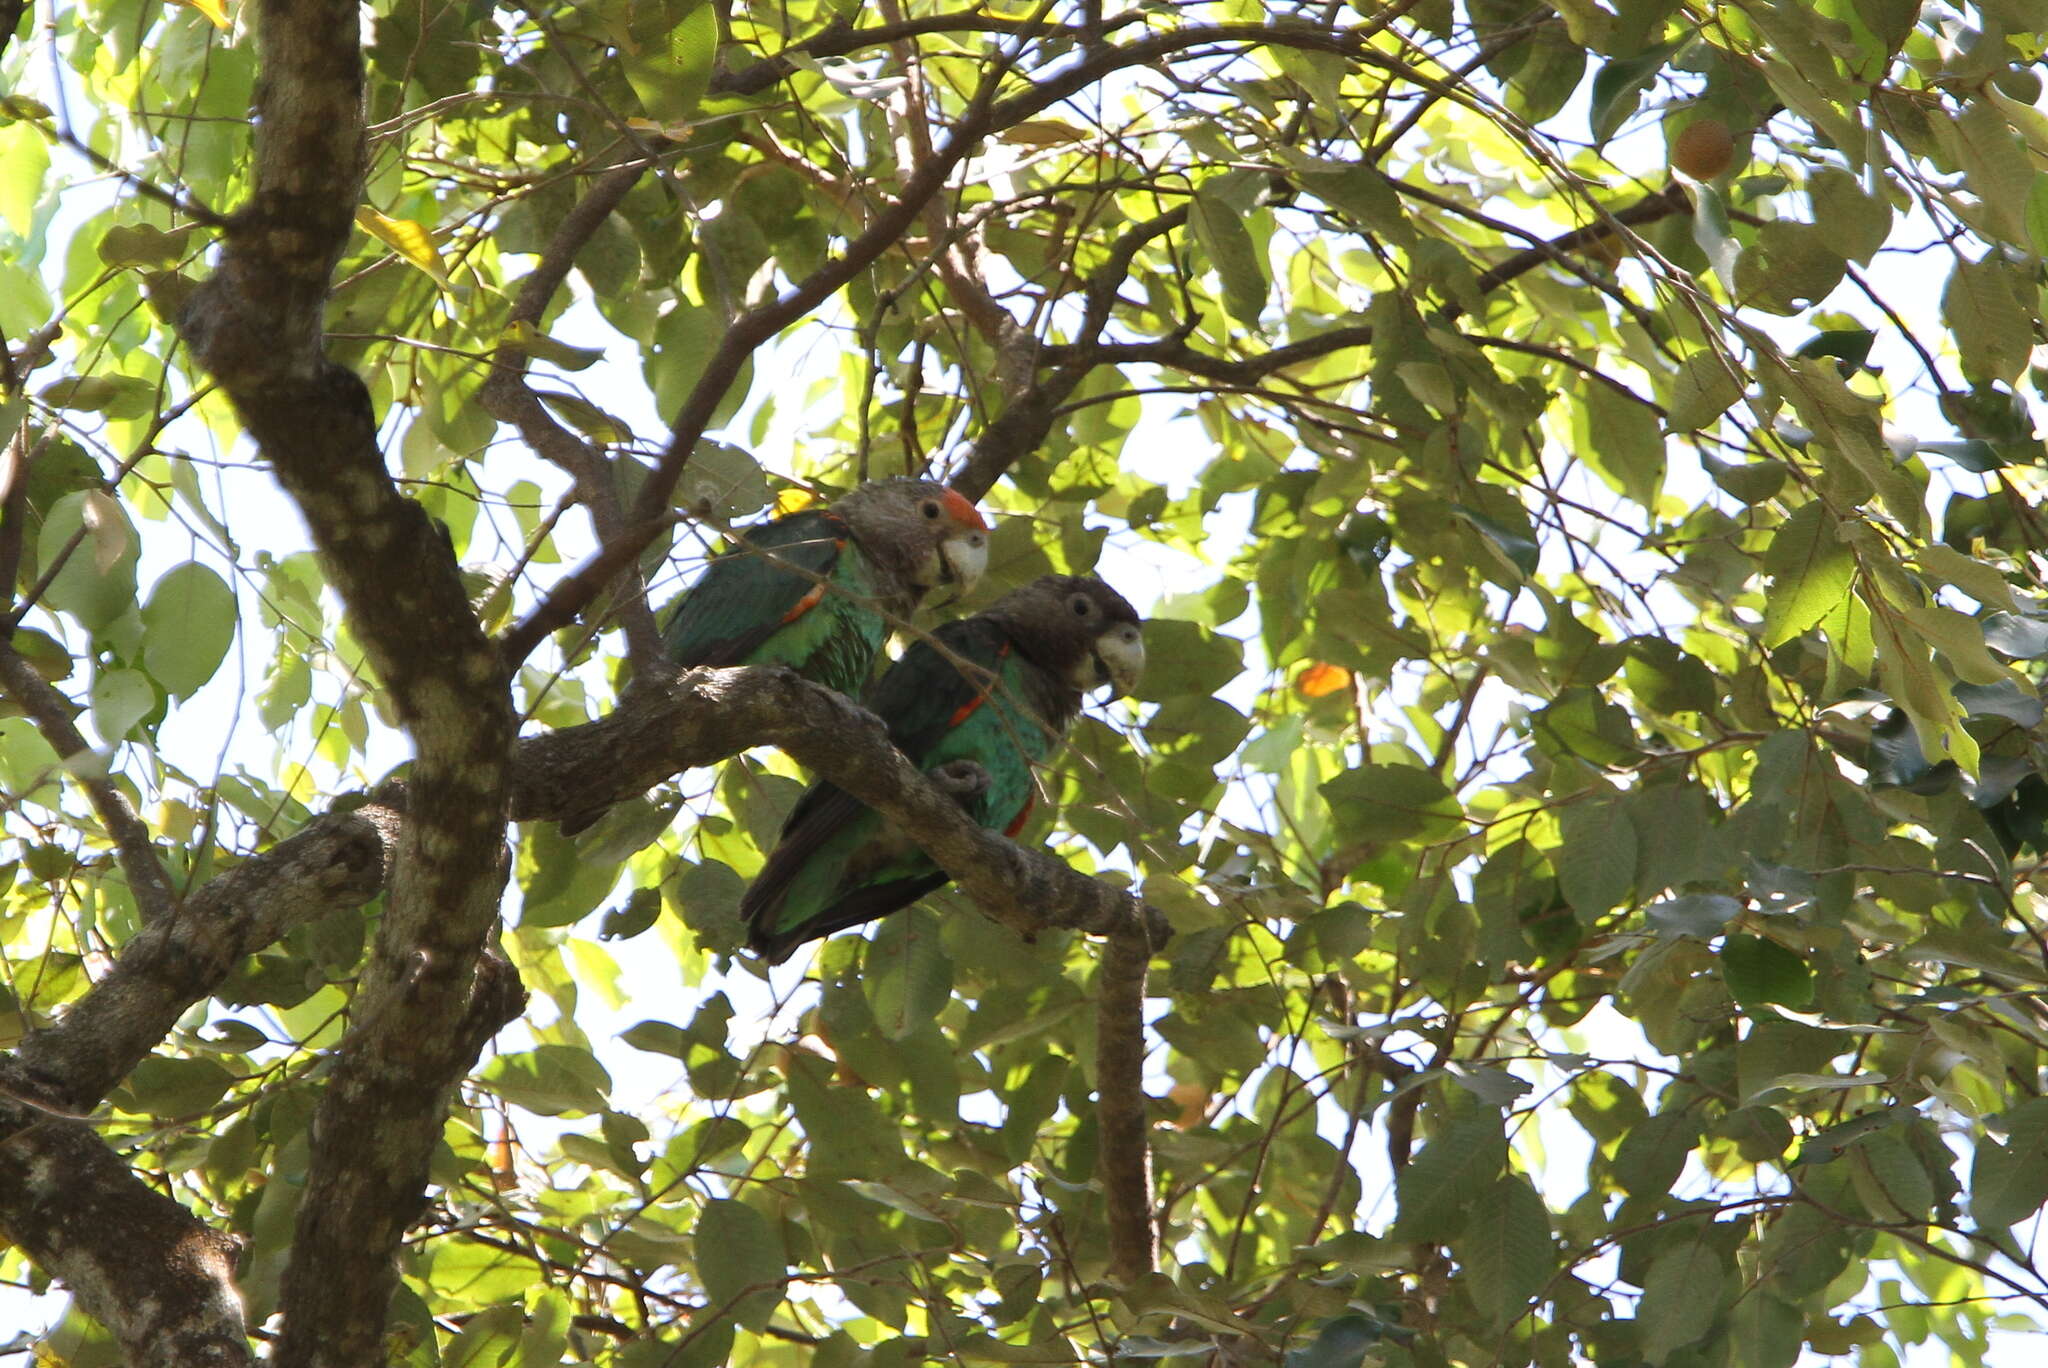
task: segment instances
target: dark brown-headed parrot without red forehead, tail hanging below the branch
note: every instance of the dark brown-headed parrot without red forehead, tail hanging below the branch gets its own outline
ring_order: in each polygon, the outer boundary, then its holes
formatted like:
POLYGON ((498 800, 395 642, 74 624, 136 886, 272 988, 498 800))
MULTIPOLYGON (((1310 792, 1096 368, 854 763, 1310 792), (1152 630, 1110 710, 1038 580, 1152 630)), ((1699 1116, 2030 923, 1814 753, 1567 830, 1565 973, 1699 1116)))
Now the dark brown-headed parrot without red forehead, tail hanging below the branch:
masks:
MULTIPOLYGON (((866 698, 889 739, 985 827, 1016 836, 1032 766, 1081 711, 1145 668, 1137 610, 1087 575, 1044 575, 918 641, 866 698)), ((915 844, 834 784, 811 784, 739 911, 748 944, 782 963, 805 940, 872 922, 946 883, 915 844)))

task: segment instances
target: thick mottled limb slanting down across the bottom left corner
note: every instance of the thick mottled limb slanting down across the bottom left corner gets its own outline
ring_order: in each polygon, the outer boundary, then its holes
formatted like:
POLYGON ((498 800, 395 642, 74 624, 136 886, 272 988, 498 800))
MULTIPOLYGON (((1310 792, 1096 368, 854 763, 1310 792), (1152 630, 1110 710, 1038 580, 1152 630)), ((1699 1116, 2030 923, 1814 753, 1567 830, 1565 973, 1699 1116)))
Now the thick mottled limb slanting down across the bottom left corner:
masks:
MULTIPOLYGON (((18 1112, 0 1102, 0 1122, 18 1112)), ((0 1143, 0 1233, 70 1286, 137 1368, 250 1362, 236 1241, 143 1184, 90 1126, 29 1114, 0 1143)))

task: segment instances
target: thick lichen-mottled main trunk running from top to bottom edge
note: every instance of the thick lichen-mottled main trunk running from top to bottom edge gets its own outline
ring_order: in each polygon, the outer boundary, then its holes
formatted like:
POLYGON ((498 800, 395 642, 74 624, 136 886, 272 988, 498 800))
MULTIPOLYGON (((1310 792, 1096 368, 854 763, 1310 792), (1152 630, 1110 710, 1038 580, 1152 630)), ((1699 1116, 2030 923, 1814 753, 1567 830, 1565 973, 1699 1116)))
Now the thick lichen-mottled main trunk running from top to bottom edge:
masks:
POLYGON ((506 879, 508 676, 455 555, 377 448, 369 391, 322 350, 360 190, 360 8, 262 0, 256 190, 182 330, 299 506, 416 756, 391 897, 319 1112, 283 1280, 281 1368, 379 1362, 446 1089, 506 995, 479 969, 506 879))

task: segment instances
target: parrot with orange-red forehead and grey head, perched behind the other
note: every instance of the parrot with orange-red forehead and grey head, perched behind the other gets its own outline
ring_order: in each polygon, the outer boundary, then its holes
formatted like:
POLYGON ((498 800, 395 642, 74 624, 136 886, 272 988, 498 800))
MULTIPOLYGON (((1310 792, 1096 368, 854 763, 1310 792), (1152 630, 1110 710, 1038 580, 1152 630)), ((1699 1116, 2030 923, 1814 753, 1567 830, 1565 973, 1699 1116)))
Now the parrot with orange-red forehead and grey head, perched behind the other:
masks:
POLYGON ((891 618, 926 590, 967 592, 989 559, 989 524, 930 479, 877 479, 831 508, 750 528, 676 600, 662 645, 678 666, 791 666, 858 694, 891 618))

